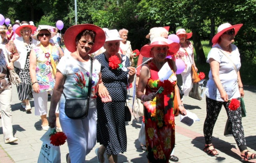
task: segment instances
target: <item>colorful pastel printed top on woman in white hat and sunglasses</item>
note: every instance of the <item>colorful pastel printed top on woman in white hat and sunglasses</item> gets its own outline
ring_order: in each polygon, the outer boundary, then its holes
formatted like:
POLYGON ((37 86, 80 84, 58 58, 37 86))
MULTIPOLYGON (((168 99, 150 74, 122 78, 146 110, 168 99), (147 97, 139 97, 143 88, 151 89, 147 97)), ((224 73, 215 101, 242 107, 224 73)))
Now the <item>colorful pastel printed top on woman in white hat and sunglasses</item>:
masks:
POLYGON ((50 55, 52 55, 56 65, 60 61, 58 45, 52 46, 52 54, 45 54, 40 46, 33 48, 36 53, 36 80, 39 84, 39 91, 45 92, 53 90, 55 77, 52 72, 50 55))

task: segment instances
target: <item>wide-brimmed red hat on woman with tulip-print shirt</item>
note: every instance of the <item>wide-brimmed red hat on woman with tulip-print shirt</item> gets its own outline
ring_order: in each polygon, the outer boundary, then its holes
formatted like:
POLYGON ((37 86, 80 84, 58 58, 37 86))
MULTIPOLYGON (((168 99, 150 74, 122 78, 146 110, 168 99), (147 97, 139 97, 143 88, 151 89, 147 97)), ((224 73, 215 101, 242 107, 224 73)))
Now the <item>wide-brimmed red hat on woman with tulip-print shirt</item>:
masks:
POLYGON ((105 32, 100 27, 95 26, 93 24, 79 24, 79 25, 71 26, 65 32, 64 44, 68 49, 68 51, 70 52, 76 51, 76 36, 84 30, 92 30, 96 33, 94 38, 94 45, 90 50, 90 54, 96 52, 104 45, 106 36, 105 36, 105 32))

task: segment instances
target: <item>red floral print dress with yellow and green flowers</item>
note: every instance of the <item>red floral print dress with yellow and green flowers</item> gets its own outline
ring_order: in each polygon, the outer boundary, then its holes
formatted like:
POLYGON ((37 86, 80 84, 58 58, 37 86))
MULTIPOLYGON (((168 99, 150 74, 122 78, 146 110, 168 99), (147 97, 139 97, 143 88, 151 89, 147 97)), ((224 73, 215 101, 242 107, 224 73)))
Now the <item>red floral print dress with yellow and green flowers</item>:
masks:
POLYGON ((151 61, 148 65, 151 77, 146 85, 146 95, 156 92, 161 86, 164 90, 159 91, 152 101, 144 102, 147 157, 151 163, 168 163, 175 143, 173 101, 176 81, 161 82, 158 68, 151 61))

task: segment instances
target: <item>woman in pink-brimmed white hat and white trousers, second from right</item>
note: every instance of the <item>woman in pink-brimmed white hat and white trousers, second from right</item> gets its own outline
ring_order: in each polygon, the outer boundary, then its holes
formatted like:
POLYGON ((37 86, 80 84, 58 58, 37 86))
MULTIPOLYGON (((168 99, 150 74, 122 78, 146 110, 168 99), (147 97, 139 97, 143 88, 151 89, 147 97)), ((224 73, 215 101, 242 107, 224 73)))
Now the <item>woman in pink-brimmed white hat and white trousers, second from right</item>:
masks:
POLYGON ((185 62, 185 70, 181 73, 182 89, 184 96, 188 96, 188 93, 192 89, 191 66, 193 65, 195 70, 198 71, 194 61, 194 47, 188 40, 192 37, 192 32, 186 33, 186 30, 181 28, 176 31, 176 35, 180 39, 180 50, 175 55, 175 58, 182 59, 185 62))

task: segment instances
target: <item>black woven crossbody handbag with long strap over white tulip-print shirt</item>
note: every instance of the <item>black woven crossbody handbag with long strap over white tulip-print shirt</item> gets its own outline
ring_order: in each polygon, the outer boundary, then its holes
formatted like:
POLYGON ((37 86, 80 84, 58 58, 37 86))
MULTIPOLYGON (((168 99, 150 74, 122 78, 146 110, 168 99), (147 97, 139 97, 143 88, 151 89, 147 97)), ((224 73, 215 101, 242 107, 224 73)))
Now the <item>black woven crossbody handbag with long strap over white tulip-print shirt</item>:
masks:
POLYGON ((88 83, 88 97, 86 98, 79 98, 79 99, 66 99, 65 102, 65 114, 67 117, 71 119, 84 119, 88 115, 89 110, 89 100, 91 94, 91 87, 92 87, 92 58, 91 60, 91 67, 90 67, 90 76, 89 76, 89 83, 88 83))

